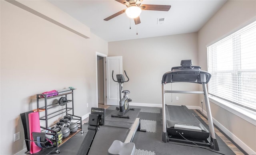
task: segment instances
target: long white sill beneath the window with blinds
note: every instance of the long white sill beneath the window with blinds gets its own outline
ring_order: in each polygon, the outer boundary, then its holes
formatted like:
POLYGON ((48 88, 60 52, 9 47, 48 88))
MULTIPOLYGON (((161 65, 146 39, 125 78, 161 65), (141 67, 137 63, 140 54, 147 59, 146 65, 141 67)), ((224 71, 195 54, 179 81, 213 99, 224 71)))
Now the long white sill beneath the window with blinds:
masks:
POLYGON ((232 114, 235 114, 236 116, 238 116, 238 117, 246 120, 247 122, 250 122, 254 126, 256 126, 256 112, 253 112, 251 110, 248 110, 248 109, 240 107, 240 106, 237 106, 230 102, 221 100, 212 95, 209 95, 209 100, 210 100, 210 102, 220 106, 221 108, 224 108, 225 110, 228 110, 232 114))

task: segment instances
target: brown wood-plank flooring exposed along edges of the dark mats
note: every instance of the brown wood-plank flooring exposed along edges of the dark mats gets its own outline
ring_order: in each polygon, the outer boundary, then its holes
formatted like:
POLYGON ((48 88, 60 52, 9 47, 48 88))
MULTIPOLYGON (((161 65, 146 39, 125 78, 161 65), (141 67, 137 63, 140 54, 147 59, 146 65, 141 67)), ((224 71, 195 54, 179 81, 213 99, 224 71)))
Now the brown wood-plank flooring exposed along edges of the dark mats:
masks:
MULTIPOLYGON (((104 104, 98 104, 98 108, 105 108, 107 109, 110 106, 104 105, 104 104)), ((206 119, 205 116, 203 116, 200 112, 194 110, 196 112, 196 114, 198 114, 198 116, 200 116, 200 118, 202 118, 202 120, 204 120, 204 122, 206 122, 206 124, 208 124, 208 120, 206 119)), ((83 120, 83 123, 88 122, 88 118, 83 120)), ((242 153, 225 135, 223 135, 217 128, 214 127, 214 131, 215 133, 228 145, 228 147, 230 147, 230 149, 232 149, 232 151, 234 153, 236 153, 236 155, 244 155, 244 153, 242 153)))

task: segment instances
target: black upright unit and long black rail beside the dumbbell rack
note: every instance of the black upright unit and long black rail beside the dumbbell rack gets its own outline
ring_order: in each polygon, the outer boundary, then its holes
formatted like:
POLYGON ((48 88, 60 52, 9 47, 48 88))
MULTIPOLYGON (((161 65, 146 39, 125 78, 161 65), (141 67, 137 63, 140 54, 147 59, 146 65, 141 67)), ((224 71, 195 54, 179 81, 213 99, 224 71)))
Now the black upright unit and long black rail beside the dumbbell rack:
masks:
POLYGON ((77 155, 87 155, 94 140, 94 137, 99 131, 100 126, 105 124, 105 109, 104 108, 91 108, 89 115, 88 132, 78 150, 77 155))

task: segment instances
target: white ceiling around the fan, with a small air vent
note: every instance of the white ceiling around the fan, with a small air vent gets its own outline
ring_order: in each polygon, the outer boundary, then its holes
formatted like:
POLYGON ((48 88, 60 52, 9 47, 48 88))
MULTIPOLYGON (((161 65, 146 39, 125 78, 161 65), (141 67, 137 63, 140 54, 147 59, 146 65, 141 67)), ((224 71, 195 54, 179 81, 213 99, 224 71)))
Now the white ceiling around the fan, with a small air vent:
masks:
POLYGON ((144 0, 141 4, 172 7, 168 12, 142 10, 141 23, 135 25, 134 20, 130 20, 125 13, 109 21, 103 20, 126 8, 124 4, 115 0, 48 1, 90 27, 92 33, 106 41, 197 32, 226 2, 226 0, 144 0), (158 18, 165 18, 164 24, 157 24, 158 18))

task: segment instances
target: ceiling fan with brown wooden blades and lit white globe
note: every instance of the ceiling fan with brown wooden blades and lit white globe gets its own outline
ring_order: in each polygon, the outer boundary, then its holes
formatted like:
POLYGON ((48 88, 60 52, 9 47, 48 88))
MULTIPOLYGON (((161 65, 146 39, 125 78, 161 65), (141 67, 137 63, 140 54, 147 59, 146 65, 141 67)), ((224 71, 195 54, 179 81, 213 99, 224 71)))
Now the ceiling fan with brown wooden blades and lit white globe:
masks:
POLYGON ((140 12, 141 10, 154 10, 154 11, 169 11, 171 6, 170 5, 152 5, 152 4, 141 4, 143 0, 115 0, 117 2, 120 2, 124 5, 126 5, 126 9, 121 10, 107 18, 105 18, 105 21, 111 20, 112 18, 115 18, 116 16, 119 16, 120 14, 123 14, 126 12, 126 14, 134 19, 135 25, 140 24, 140 12), (135 16, 130 15, 130 13, 133 13, 133 9, 138 11, 138 14, 135 16))

